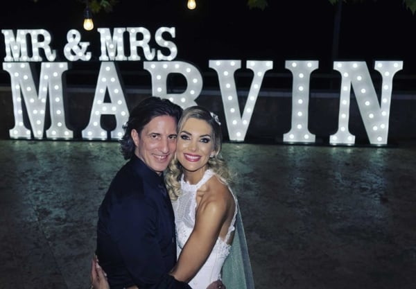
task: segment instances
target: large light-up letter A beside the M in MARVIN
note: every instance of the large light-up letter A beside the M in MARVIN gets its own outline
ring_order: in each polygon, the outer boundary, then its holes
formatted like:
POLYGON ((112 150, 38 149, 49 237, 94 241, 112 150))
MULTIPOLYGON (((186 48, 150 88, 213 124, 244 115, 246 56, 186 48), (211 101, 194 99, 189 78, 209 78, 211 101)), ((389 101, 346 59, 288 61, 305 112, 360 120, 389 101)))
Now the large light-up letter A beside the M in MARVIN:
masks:
POLYGON ((101 63, 91 116, 87 128, 83 130, 83 139, 107 139, 107 131, 100 126, 102 114, 114 115, 116 118, 116 128, 111 132, 111 138, 123 137, 123 124, 128 121, 128 107, 114 62, 101 63), (110 103, 104 102, 107 89, 110 103))

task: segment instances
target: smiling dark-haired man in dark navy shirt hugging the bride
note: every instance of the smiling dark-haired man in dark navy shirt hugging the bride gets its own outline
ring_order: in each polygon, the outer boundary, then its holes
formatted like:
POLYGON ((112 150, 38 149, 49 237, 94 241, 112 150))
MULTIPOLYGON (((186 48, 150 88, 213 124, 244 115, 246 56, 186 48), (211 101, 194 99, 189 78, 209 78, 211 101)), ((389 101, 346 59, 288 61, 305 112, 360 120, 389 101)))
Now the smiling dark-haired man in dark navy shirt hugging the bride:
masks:
MULTIPOLYGON (((96 255, 112 289, 191 288, 168 274, 176 263, 175 220, 162 175, 175 154, 181 114, 169 100, 150 97, 132 110, 124 126, 121 152, 130 160, 98 209, 96 255)), ((95 264, 92 283, 108 286, 95 264)))

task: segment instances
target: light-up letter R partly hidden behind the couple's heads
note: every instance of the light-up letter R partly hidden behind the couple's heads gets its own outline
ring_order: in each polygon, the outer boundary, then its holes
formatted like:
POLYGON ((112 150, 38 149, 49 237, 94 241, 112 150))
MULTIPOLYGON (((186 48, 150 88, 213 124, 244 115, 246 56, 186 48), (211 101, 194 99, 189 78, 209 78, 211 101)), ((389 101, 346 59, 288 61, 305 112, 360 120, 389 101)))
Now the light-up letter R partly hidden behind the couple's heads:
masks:
POLYGON ((196 105, 194 101, 202 91, 202 75, 193 65, 181 61, 150 61, 144 62, 144 69, 152 75, 152 94, 168 98, 181 107, 196 105), (168 74, 179 73, 187 80, 187 89, 182 94, 168 94, 168 74))

